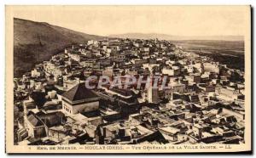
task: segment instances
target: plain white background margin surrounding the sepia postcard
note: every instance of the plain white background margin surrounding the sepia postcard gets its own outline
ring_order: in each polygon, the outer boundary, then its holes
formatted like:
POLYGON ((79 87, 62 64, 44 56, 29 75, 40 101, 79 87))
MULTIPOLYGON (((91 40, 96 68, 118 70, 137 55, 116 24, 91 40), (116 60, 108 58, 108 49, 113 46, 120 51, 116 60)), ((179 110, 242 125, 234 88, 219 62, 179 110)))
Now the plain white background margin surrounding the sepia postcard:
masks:
MULTIPOLYGON (((0 18, 1 18, 1 29, 0 29, 0 34, 2 35, 2 37, 0 38, 0 43, 1 43, 1 56, 0 56, 0 111, 2 112, 2 115, 0 116, 0 151, 1 157, 7 157, 8 155, 6 155, 4 153, 4 73, 5 73, 5 36, 4 36, 4 32, 5 32, 5 22, 4 22, 4 5, 7 4, 94 4, 94 5, 99 5, 99 4, 107 4, 107 5, 114 5, 114 4, 126 4, 126 5, 142 5, 142 4, 149 4, 149 5, 217 5, 217 4, 224 4, 224 5, 239 5, 239 4, 251 4, 253 6, 253 8, 255 9, 256 6, 256 1, 253 0, 233 0, 233 1, 224 1, 224 0, 214 0, 214 1, 203 1, 203 0, 194 0, 194 1, 185 1, 185 0, 172 0, 172 2, 166 2, 164 0, 157 0, 157 1, 153 1, 153 0, 129 0, 129 1, 121 1, 121 0, 108 0, 108 1, 104 1, 104 0, 93 0, 93 1, 80 1, 80 0, 44 0, 44 1, 32 1, 32 0, 24 0, 24 1, 19 1, 19 0, 1 0, 0 1, 0 18)), ((255 10, 254 10, 255 13, 255 10)), ((254 21, 254 16, 253 16, 253 21, 254 21)), ((253 25, 253 30, 255 29, 255 25, 253 25)), ((253 36, 254 37, 254 36, 253 36)), ((255 45, 255 41, 253 41, 252 45, 255 45)), ((253 54, 253 52, 252 52, 253 54)), ((253 61, 255 62, 255 55, 253 55, 253 61)), ((255 67, 253 66, 253 74, 255 74, 255 67)), ((253 81, 252 81, 253 82, 253 81)), ((255 86, 255 85, 254 85, 255 86)), ((254 88, 254 87, 253 87, 254 88)), ((254 99, 256 98, 256 94, 253 93, 254 95, 252 96, 254 99)), ((253 105, 252 105, 253 106, 253 105)), ((253 108, 253 114, 255 113, 255 107, 253 108)), ((253 126, 253 131, 255 132, 255 126, 253 126)), ((255 137, 253 137, 255 138, 255 137)), ((254 141, 253 141, 254 142, 254 141)), ((255 146, 255 144, 253 145, 253 147, 255 146)), ((253 149, 255 150, 255 149, 253 149)), ((21 156, 27 156, 27 155, 21 155, 21 156)), ((33 156, 33 155, 32 155, 33 156)), ((44 155, 40 155, 39 157, 44 156, 44 155)), ((49 156, 49 155, 48 155, 49 156)), ((62 157, 63 155, 56 155, 56 157, 62 157)), ((67 155, 67 156, 73 156, 73 155, 67 155)), ((84 156, 84 155, 82 155, 84 156)), ((86 156, 92 156, 92 155, 86 155, 86 156)), ((98 155, 99 156, 99 155, 98 155)), ((105 155, 106 156, 106 155, 105 155)), ((113 155, 108 155, 108 156, 113 156, 113 155)), ((120 156, 120 155, 119 155, 120 156)), ((121 155, 124 156, 124 155, 121 155)), ((137 155, 138 156, 138 155, 137 155)), ((147 155, 148 156, 148 155, 147 155)), ((155 155, 152 155, 155 156, 155 155)), ((170 155, 166 155, 166 156, 170 156, 170 155)), ((173 155, 172 155, 173 156, 173 155)), ((177 156, 177 155, 176 155, 177 156)), ((187 155, 179 155, 180 157, 185 157, 187 155)), ((189 155, 191 156, 191 155, 189 155)), ((198 155, 192 155, 192 156, 198 156, 198 155)), ((199 155, 199 156, 205 156, 205 155, 199 155)), ((207 155, 207 156, 211 156, 211 155, 207 155)), ((218 157, 233 157, 233 156, 240 156, 240 155, 216 155, 218 157)))

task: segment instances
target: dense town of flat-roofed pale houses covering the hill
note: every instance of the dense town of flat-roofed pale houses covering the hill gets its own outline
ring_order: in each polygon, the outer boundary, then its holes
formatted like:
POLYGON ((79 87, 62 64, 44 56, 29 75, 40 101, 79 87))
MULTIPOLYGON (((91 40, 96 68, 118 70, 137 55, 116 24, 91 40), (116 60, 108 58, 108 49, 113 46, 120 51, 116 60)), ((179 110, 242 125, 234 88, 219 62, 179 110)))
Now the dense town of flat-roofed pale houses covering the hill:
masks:
POLYGON ((14 83, 15 144, 245 143, 244 72, 165 40, 73 44, 14 83))

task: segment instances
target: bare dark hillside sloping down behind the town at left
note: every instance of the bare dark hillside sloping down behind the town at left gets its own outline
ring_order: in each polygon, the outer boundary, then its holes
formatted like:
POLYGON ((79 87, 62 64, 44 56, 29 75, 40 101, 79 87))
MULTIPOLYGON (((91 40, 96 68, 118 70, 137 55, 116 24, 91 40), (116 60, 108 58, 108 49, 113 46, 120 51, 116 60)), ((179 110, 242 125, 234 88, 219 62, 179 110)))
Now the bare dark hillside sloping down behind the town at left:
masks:
POLYGON ((35 64, 50 59, 73 43, 103 37, 72 31, 48 23, 14 19, 15 77, 29 71, 35 64))

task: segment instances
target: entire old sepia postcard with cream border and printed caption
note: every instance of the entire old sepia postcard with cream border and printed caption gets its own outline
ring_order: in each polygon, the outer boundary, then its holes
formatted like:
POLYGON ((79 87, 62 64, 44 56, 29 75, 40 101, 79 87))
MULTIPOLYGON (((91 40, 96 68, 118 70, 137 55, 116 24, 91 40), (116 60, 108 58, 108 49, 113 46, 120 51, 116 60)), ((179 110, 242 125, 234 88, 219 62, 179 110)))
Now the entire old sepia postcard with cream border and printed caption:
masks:
POLYGON ((6 6, 7 153, 250 152, 250 6, 6 6))

